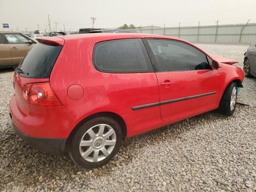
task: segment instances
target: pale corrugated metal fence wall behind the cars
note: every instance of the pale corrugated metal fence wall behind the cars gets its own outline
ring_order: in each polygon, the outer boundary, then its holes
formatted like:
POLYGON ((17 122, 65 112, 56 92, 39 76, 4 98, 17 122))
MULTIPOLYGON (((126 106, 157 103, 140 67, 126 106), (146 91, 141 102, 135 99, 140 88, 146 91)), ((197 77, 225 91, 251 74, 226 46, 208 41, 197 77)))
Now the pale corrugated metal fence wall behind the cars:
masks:
POLYGON ((134 29, 139 33, 161 34, 180 37, 190 42, 252 43, 256 42, 256 23, 235 25, 210 25, 168 27, 157 29, 134 29), (242 28, 244 28, 242 30, 242 28), (242 30, 242 34, 240 35, 242 30))

